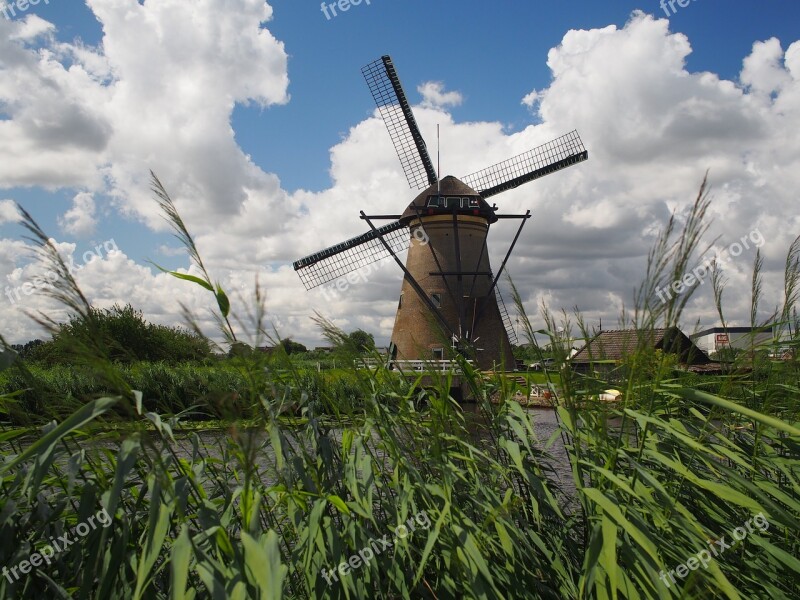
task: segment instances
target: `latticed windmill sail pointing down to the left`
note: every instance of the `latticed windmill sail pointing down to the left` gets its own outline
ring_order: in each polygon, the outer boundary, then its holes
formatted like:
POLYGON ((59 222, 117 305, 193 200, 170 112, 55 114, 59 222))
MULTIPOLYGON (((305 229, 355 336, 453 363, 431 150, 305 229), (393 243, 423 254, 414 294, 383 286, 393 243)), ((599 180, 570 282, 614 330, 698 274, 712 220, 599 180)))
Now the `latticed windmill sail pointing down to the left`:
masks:
POLYGON ((307 290, 314 289, 391 256, 381 243, 381 236, 396 253, 403 252, 411 243, 408 226, 394 221, 375 231, 301 258, 293 264, 294 270, 307 290))

